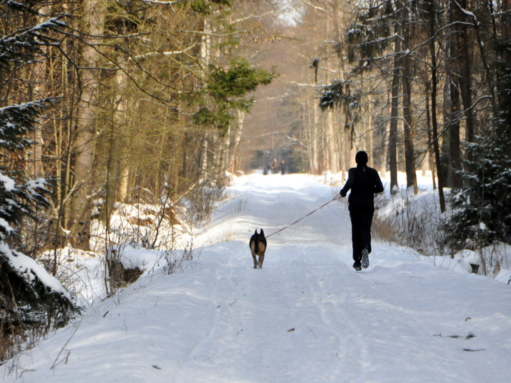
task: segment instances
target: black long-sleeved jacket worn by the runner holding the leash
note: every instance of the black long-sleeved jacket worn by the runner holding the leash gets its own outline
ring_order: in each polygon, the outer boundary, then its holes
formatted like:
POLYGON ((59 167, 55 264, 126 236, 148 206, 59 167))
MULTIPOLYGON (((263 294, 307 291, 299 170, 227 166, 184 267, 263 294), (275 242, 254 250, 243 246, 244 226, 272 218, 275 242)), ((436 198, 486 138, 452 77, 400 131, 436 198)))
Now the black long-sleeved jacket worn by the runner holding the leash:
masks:
POLYGON ((374 194, 383 192, 383 184, 375 169, 358 164, 348 171, 348 180, 341 189, 341 197, 346 197, 350 189, 348 198, 350 210, 363 208, 374 211, 374 194))

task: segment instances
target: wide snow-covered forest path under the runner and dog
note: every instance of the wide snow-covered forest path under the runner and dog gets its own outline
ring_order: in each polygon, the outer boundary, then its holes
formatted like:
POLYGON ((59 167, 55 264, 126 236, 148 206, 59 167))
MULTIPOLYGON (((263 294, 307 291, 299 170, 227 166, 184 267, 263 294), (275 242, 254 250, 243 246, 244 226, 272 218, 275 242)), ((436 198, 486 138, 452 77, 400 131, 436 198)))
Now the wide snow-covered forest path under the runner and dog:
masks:
POLYGON ((505 382, 511 288, 374 244, 352 268, 345 200, 304 175, 248 175, 182 273, 155 270, 3 365, 24 382, 505 382), (198 258, 198 259, 197 259, 198 258))

